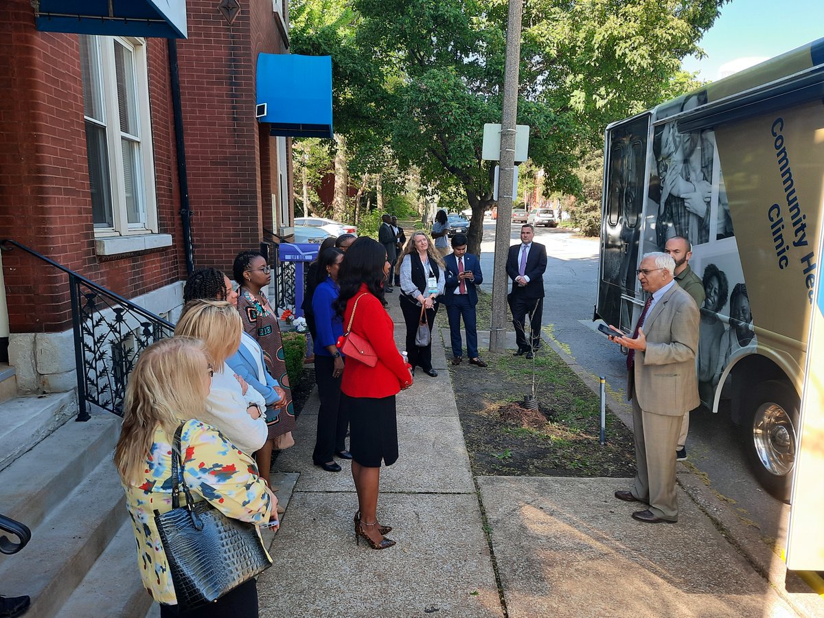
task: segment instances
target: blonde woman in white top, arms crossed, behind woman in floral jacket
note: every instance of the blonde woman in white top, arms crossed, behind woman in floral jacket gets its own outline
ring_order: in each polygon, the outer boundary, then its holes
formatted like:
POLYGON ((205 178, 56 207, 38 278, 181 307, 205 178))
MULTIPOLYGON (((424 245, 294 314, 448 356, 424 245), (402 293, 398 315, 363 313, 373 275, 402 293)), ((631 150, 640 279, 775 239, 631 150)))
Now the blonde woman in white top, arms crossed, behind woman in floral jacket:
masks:
POLYGON ((213 424, 232 444, 251 455, 263 447, 269 431, 266 400, 246 382, 238 381, 226 363, 241 346, 241 330, 241 316, 231 303, 201 299, 186 304, 175 335, 201 339, 213 366, 212 386, 198 419, 213 424))

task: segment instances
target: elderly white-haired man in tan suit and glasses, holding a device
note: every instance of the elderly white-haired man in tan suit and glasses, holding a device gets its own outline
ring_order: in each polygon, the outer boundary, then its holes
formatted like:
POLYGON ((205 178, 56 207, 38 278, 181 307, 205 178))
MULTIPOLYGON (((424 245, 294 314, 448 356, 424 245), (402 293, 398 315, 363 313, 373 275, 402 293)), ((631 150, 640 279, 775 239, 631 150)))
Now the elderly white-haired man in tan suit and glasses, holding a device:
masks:
POLYGON ((678 521, 676 447, 681 419, 698 406, 695 353, 700 314, 695 301, 673 279, 675 261, 648 253, 638 279, 649 293, 632 337, 610 337, 630 349, 627 398, 632 400, 638 474, 630 491, 616 498, 648 503, 632 517, 640 522, 678 521))

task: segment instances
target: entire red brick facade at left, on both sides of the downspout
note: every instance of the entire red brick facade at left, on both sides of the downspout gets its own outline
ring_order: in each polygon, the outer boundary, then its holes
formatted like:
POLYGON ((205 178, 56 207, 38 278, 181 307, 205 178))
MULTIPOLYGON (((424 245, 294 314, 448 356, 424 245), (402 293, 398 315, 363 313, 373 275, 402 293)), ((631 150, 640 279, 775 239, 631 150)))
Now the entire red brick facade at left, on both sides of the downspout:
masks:
MULTIPOLYGON (((276 157, 255 119, 255 70, 257 54, 285 47, 271 0, 243 2, 232 26, 213 0, 187 0, 187 14, 178 54, 195 267, 229 272, 237 251, 273 229, 276 157)), ((125 297, 185 278, 166 49, 147 40, 159 232, 174 245, 98 258, 77 35, 35 30, 29 0, 7 0, 0 16, 0 236, 125 297)), ((2 263, 12 332, 69 327, 65 275, 17 250, 2 263)))

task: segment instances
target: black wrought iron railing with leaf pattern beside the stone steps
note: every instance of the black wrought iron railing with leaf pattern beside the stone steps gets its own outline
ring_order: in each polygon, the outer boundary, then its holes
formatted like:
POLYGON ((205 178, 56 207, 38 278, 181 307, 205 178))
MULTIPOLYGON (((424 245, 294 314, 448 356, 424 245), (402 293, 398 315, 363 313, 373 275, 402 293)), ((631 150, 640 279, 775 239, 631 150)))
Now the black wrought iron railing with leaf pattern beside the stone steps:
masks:
POLYGON ((68 274, 77 367, 77 420, 90 418, 88 405, 123 415, 126 382, 143 349, 174 334, 175 325, 81 274, 12 240, 3 250, 26 251, 68 274))

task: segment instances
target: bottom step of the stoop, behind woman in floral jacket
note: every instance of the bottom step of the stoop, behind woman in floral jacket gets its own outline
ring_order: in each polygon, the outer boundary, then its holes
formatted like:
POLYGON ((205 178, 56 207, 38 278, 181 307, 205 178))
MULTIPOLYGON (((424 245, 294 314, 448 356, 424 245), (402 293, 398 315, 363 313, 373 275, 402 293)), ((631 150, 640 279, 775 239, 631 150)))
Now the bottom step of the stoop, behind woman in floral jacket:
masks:
POLYGON ((143 588, 138 575, 134 532, 129 517, 97 559, 72 596, 58 612, 58 618, 119 616, 143 618, 150 606, 159 606, 143 588))

